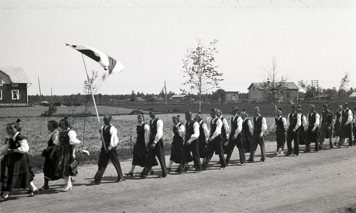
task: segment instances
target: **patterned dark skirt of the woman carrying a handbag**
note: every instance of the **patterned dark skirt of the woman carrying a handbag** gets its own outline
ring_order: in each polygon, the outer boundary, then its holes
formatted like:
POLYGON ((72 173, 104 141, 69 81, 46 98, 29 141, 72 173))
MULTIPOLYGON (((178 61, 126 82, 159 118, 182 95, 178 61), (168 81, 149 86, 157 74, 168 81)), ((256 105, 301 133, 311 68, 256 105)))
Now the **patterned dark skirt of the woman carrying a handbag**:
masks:
POLYGON ((56 163, 56 172, 54 175, 58 177, 76 176, 78 174, 77 168, 70 167, 73 163, 72 145, 61 145, 58 151, 58 158, 56 163))

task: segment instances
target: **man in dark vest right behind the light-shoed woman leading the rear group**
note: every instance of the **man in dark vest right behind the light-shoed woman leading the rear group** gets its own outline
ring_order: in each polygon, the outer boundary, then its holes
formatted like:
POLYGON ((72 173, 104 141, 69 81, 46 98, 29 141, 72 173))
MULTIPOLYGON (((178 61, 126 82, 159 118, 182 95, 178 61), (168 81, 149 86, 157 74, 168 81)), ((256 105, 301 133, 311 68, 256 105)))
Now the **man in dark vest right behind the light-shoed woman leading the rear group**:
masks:
POLYGON ((293 156, 299 155, 299 127, 302 125, 301 116, 299 113, 295 112, 297 106, 293 105, 290 107, 291 113, 288 114, 287 124, 285 129, 287 129, 287 147, 288 152, 285 156, 292 154, 292 140, 294 141, 294 153, 293 156))

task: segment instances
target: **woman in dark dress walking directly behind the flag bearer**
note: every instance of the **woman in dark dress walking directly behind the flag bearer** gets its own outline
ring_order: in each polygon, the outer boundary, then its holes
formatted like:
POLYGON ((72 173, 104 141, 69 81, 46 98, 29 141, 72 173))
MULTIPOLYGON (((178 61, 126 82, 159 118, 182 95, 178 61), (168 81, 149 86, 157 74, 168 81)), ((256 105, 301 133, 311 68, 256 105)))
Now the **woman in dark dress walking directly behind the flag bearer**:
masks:
MULTIPOLYGON (((136 126, 137 138, 136 138, 136 144, 135 146, 133 146, 133 150, 132 150, 131 170, 129 173, 124 174, 126 176, 131 176, 131 177, 133 176, 133 170, 135 169, 136 166, 145 167, 146 156, 147 156, 146 144, 148 143, 148 140, 150 140, 150 126, 148 126, 148 124, 145 123, 145 117, 143 117, 143 115, 138 115, 137 121, 138 121, 138 124, 136 126)), ((158 161, 155 158, 155 160, 152 162, 152 166, 157 166, 157 165, 158 165, 158 161)), ((148 175, 153 175, 152 168, 148 173, 148 175)))

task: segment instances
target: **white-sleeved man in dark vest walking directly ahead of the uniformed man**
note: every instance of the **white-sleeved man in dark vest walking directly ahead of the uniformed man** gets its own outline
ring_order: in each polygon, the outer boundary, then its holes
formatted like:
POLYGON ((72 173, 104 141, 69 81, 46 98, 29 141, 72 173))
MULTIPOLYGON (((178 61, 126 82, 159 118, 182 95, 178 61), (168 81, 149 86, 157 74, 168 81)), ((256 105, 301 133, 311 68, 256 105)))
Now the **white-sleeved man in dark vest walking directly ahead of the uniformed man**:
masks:
POLYGON ((307 150, 310 150, 310 144, 315 143, 315 149, 313 152, 319 151, 319 140, 320 140, 320 132, 319 132, 319 123, 320 116, 315 112, 315 105, 309 105, 309 112, 307 116, 307 150))

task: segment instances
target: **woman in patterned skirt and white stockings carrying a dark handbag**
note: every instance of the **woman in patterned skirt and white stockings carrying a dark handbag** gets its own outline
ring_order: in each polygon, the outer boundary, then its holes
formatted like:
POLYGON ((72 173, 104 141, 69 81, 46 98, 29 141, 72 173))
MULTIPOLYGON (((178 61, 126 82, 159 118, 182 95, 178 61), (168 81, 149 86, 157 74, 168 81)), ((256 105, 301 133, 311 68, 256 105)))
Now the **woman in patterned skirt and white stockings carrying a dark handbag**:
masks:
POLYGON ((80 140, 77 139, 77 134, 71 129, 67 117, 59 121, 59 127, 61 131, 59 132, 58 139, 53 142, 56 146, 49 157, 53 159, 54 153, 58 150, 56 172, 54 175, 64 178, 66 185, 62 191, 66 192, 73 187, 74 178, 71 176, 78 174, 77 168, 72 169, 70 164, 75 159, 75 146, 80 143, 80 140))

